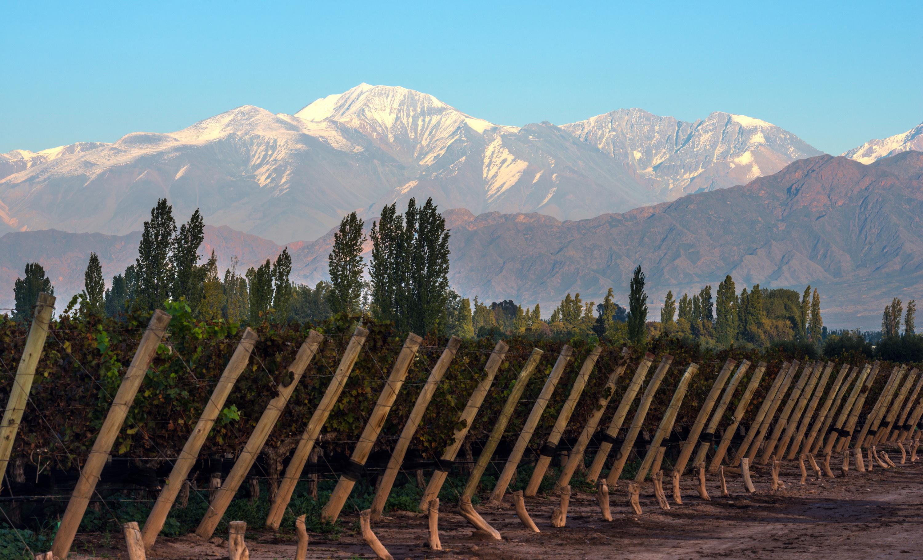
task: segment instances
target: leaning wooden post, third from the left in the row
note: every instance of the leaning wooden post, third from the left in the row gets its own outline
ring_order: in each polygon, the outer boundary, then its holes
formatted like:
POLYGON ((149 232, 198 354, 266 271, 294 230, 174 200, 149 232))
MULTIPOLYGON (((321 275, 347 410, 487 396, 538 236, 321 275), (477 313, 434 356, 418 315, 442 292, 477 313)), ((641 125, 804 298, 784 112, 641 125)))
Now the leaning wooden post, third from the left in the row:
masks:
POLYGON ((205 403, 205 407, 198 417, 196 427, 192 429, 192 433, 186 439, 186 445, 179 452, 179 457, 174 462, 173 470, 170 471, 170 476, 163 485, 161 494, 157 496, 157 502, 150 510, 148 520, 144 523, 141 536, 144 540, 145 549, 150 549, 154 542, 157 541, 157 535, 163 529, 167 514, 170 513, 170 508, 173 507, 176 496, 179 495, 183 484, 186 483, 189 471, 192 471, 192 468, 196 465, 198 452, 201 451, 205 440, 209 437, 211 427, 224 409, 224 401, 231 394, 231 389, 237 383, 237 378, 244 372, 246 364, 250 361, 250 354, 253 352, 253 347, 256 346, 258 339, 257 333, 247 327, 244 331, 244 336, 241 337, 237 348, 231 355, 231 359, 224 367, 222 376, 211 391, 211 397, 205 403))

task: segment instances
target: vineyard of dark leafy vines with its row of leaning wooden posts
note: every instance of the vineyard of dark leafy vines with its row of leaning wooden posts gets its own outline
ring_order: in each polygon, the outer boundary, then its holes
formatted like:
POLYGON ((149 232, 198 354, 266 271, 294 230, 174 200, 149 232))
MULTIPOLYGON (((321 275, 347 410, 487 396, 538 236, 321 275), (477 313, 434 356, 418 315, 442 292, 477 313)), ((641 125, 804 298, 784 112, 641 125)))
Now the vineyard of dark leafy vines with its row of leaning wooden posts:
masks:
POLYGON ((64 558, 124 530, 127 549, 110 546, 137 560, 161 557, 163 537, 230 530, 234 558, 246 521, 305 544, 278 557, 335 555, 311 552, 307 531, 333 549, 353 531, 367 546, 343 554, 387 558, 377 524, 408 511, 428 520, 409 553, 422 555, 444 550, 448 524, 454 541, 501 542, 511 522, 566 531, 575 511, 648 515, 645 496, 667 511, 683 492, 778 496, 785 479, 807 488, 916 460, 911 363, 669 339, 446 340, 357 316, 237 328, 183 303, 51 320, 42 298, 31 326, 0 323, 0 557, 64 558))

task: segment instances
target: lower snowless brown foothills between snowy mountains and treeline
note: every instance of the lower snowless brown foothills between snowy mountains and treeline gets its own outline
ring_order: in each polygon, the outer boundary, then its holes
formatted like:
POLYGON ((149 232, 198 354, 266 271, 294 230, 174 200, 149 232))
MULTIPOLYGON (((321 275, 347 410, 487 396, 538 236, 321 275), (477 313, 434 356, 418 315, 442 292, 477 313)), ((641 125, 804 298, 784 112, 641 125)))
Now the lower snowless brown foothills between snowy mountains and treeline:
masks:
MULTIPOLYGON (((542 304, 547 314, 567 292, 601 301, 628 292, 641 265, 655 311, 665 292, 698 291, 730 274, 737 289, 819 288, 824 319, 839 328, 877 328, 894 296, 923 288, 923 153, 905 151, 864 164, 822 155, 787 165, 748 185, 700 192, 624 213, 557 220, 539 213, 443 212, 450 227, 450 282, 486 302, 542 304)), ((366 229, 370 227, 366 220, 366 229)), ((106 279, 134 261, 139 233, 8 232, 0 238, 3 301, 26 262, 39 260, 59 293, 82 287, 90 251, 106 279)), ((327 276, 333 232, 289 244, 292 278, 327 276)), ((241 256, 256 265, 282 245, 226 226, 206 228, 201 253, 219 266, 241 256)), ((366 258, 368 257, 366 247, 366 258)))

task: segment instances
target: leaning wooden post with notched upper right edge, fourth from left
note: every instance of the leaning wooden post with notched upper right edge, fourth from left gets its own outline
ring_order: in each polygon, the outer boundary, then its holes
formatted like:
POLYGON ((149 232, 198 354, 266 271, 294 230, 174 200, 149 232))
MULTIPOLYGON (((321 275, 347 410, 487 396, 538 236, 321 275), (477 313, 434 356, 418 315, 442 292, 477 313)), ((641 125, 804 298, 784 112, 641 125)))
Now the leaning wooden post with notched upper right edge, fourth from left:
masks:
POLYGON ((231 472, 228 473, 227 478, 224 479, 222 487, 215 493, 202 520, 199 521, 196 534, 202 539, 210 539, 211 535, 215 532, 215 528, 218 527, 218 523, 222 520, 224 511, 231 505, 234 494, 237 494, 237 489, 244 483, 246 474, 250 471, 250 468, 253 467, 253 463, 257 460, 263 446, 266 445, 266 440, 269 439, 272 428, 275 427, 276 423, 279 421, 279 417, 282 416, 285 405, 288 404, 288 400, 292 397, 294 387, 297 387, 298 381, 300 381, 302 375, 305 374, 307 365, 311 363, 322 340, 324 340, 324 336, 316 330, 312 329, 307 334, 307 340, 302 343, 301 348, 298 349, 298 353, 294 357, 292 365, 289 366, 289 372, 292 374, 292 382, 287 386, 280 385, 278 387, 279 394, 266 405, 266 410, 263 411, 262 415, 259 417, 257 425, 253 429, 253 433, 247 438, 243 451, 241 451, 240 456, 237 458, 236 462, 234 462, 234 467, 232 467, 231 472))

